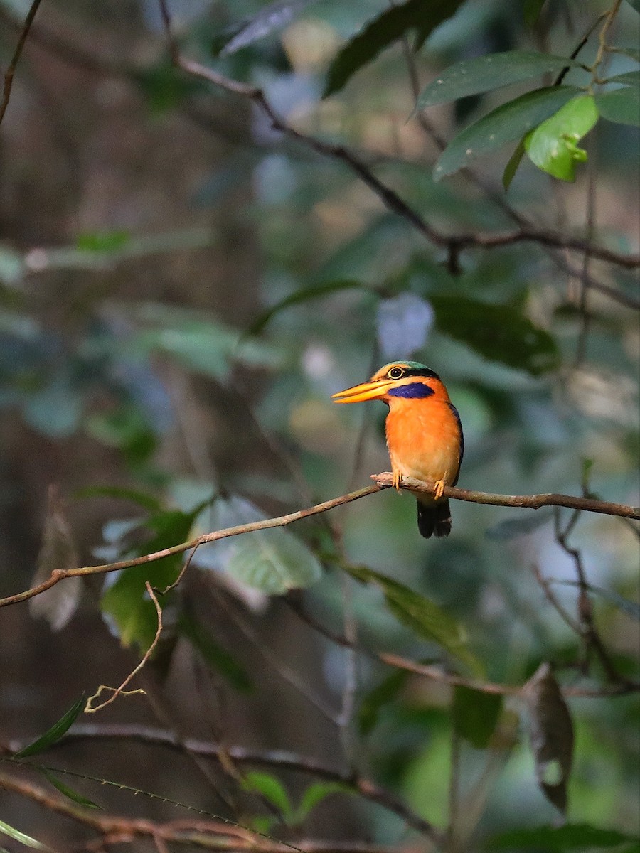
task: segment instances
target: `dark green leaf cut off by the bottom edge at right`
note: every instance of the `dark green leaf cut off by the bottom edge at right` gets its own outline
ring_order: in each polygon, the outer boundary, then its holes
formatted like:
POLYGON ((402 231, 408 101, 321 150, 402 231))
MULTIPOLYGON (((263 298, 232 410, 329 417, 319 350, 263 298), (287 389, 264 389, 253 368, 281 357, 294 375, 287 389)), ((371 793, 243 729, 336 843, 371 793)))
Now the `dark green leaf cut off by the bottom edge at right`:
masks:
POLYGON ((554 853, 555 850, 585 850, 585 848, 607 849, 618 847, 626 841, 633 840, 615 829, 590 827, 586 823, 568 823, 563 827, 531 827, 526 829, 509 829, 491 838, 486 844, 486 850, 544 850, 554 853))

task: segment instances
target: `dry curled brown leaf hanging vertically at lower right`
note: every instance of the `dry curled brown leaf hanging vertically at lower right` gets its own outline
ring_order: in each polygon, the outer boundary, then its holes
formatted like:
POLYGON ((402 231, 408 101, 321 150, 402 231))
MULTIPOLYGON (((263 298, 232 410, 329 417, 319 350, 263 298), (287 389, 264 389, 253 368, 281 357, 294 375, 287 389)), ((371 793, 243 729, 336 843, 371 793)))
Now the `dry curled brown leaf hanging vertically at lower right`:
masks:
POLYGON ((573 722, 550 664, 540 664, 522 690, 538 785, 563 814, 573 763, 573 722))

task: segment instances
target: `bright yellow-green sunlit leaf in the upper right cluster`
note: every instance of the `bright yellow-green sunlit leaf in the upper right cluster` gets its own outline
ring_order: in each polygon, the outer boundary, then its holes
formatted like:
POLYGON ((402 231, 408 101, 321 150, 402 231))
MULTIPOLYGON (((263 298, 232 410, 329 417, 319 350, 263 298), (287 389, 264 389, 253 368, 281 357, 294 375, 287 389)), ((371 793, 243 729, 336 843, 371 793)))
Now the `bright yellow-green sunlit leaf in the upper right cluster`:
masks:
POLYGON ((584 163, 587 154, 577 142, 596 125, 598 111, 591 95, 573 98, 550 119, 525 136, 525 149, 538 169, 562 181, 575 180, 576 163, 584 163))

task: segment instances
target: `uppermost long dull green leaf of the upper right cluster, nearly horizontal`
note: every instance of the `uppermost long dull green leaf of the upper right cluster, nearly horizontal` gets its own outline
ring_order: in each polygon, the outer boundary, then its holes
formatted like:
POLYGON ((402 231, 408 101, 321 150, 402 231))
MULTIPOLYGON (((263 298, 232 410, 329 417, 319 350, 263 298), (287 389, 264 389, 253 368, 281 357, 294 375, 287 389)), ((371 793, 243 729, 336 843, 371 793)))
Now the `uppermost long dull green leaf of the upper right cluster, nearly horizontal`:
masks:
POLYGON ((452 65, 422 90, 416 109, 457 101, 458 98, 500 89, 541 74, 558 73, 577 63, 564 56, 552 56, 532 50, 508 50, 504 53, 476 56, 452 65))

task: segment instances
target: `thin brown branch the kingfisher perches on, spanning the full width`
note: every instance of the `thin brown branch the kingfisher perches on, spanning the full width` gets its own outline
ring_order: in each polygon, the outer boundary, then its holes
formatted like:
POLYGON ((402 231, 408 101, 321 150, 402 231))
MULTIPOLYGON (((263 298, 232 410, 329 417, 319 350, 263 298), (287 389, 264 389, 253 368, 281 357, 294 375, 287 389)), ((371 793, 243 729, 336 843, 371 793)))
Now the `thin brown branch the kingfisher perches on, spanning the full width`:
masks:
MULTIPOLYGON (((55 569, 46 580, 38 583, 31 589, 26 589, 24 592, 16 593, 15 595, 8 595, 6 598, 0 598, 0 607, 17 604, 19 601, 27 601, 35 595, 40 595, 45 589, 55 586, 56 583, 60 583, 65 577, 84 577, 84 575, 119 572, 120 569, 128 569, 131 566, 144 566, 147 563, 162 560, 164 557, 170 557, 172 554, 183 554, 184 551, 189 551, 191 548, 198 548, 207 543, 218 542, 219 539, 241 536, 243 533, 252 533, 253 531, 270 530, 272 527, 284 527, 293 524, 294 521, 310 518, 311 515, 326 513, 329 509, 340 507, 345 503, 358 501, 361 497, 373 495, 375 492, 388 489, 393 484, 392 473, 388 471, 381 474, 372 474, 372 479, 375 479, 376 485, 369 485, 364 489, 358 489, 346 495, 333 497, 329 501, 317 503, 314 507, 299 509, 294 513, 279 515, 272 519, 252 521, 249 524, 236 525, 235 527, 226 527, 224 530, 204 533, 202 536, 189 540, 189 542, 172 545, 171 548, 162 548, 160 551, 154 551, 153 554, 143 554, 140 557, 131 557, 129 560, 118 560, 117 562, 105 563, 100 566, 55 569)), ((420 480, 410 477, 403 479, 402 488, 425 495, 433 494, 433 485, 422 483, 420 480)), ((494 495, 491 492, 457 489, 453 486, 445 486, 443 494, 445 497, 454 498, 458 501, 491 504, 495 507, 526 507, 530 509, 538 509, 540 507, 568 507, 571 509, 584 509, 591 513, 602 513, 625 519, 640 520, 640 508, 630 507, 624 503, 596 501, 592 498, 575 497, 572 495, 494 495)))

